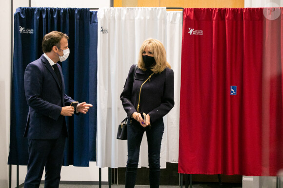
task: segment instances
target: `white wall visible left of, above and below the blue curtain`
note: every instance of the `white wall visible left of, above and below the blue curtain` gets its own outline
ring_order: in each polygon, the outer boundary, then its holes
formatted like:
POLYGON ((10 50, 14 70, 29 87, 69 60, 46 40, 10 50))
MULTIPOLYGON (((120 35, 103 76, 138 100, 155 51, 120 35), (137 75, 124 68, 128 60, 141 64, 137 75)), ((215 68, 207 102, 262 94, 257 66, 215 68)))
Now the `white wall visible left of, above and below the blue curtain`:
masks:
MULTIPOLYGON (((13 0, 13 14, 17 7, 28 7, 29 0, 13 0)), ((110 0, 31 0, 32 7, 109 7, 110 0)), ((7 165, 10 140, 10 88, 11 88, 11 0, 0 0, 0 188, 8 187, 9 166, 7 165)), ((19 167, 19 183, 24 182, 26 166, 19 167)), ((44 177, 44 175, 43 175, 44 177)), ((16 166, 12 165, 12 188, 16 187, 16 166)), ((99 169, 95 162, 90 167, 63 167, 62 181, 99 181, 99 169)), ((101 170, 101 180, 108 181, 108 169, 101 170)))

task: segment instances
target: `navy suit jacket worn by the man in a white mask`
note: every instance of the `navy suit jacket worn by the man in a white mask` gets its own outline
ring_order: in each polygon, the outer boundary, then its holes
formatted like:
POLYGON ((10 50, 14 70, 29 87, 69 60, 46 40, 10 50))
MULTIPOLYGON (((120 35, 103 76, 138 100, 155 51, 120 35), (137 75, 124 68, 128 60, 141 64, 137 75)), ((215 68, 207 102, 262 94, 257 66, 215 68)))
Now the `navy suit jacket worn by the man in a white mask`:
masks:
POLYGON ((62 88, 48 60, 41 55, 28 64, 24 72, 24 91, 29 105, 24 137, 30 139, 56 139, 61 131, 67 130, 61 107, 74 100, 64 94, 65 85, 62 68, 62 88), (64 126, 64 127, 63 127, 64 126))

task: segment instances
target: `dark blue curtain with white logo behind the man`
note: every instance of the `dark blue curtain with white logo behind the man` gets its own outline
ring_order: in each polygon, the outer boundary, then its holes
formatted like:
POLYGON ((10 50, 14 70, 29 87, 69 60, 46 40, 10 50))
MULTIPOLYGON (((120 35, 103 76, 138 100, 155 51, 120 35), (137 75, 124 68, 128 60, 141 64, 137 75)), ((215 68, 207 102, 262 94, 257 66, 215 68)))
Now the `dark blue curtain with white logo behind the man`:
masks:
POLYGON ((92 103, 87 115, 66 118, 64 166, 87 167, 95 161, 97 119, 97 14, 83 8, 18 8, 14 15, 14 58, 11 94, 10 153, 8 164, 27 165, 28 144, 23 138, 28 105, 23 74, 42 54, 41 41, 51 31, 69 36, 69 58, 60 63, 65 93, 79 102, 92 103))

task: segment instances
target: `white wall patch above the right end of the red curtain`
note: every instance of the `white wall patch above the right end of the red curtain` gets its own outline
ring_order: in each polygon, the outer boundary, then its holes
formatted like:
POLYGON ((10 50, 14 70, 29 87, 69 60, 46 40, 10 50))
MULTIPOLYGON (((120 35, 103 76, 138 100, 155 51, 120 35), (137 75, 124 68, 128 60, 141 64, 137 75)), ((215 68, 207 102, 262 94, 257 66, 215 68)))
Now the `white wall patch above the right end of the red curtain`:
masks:
POLYGON ((245 8, 283 6, 283 0, 244 0, 245 8))

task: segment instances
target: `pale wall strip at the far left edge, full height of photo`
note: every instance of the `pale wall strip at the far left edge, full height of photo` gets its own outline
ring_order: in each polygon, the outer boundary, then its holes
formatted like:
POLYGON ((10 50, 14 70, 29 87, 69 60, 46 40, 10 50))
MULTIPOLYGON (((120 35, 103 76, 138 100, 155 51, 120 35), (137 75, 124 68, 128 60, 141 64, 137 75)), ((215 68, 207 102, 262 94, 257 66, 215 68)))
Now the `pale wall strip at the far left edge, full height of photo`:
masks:
POLYGON ((8 186, 10 124, 10 1, 0 1, 0 187, 8 186))

